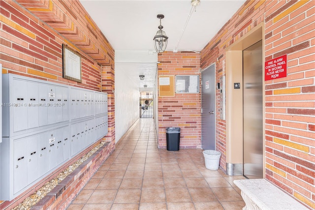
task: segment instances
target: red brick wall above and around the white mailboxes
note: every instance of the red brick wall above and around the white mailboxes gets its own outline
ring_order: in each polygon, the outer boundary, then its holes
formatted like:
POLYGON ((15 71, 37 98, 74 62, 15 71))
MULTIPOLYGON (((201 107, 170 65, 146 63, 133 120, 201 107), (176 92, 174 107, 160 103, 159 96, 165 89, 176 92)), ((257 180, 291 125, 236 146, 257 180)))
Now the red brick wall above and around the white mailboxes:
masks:
MULTIPOLYGON (((26 3, 27 1, 23 1, 26 3)), ((83 19, 87 19, 84 14, 82 17, 76 17, 74 13, 69 13, 69 8, 79 8, 80 14, 84 13, 85 10, 80 8, 79 1, 49 1, 50 3, 61 3, 64 4, 58 7, 58 14, 66 15, 66 23, 72 20, 75 23, 80 23, 79 27, 89 27, 88 24, 83 24, 83 19), (63 9, 63 10, 62 10, 63 9), (64 13, 63 13, 64 12, 64 13), (81 18, 81 19, 80 19, 81 18), (70 20, 70 21, 69 21, 70 20)), ((31 4, 31 7, 33 6, 31 4)), ((37 3, 41 3, 38 1, 37 3)), ((38 6, 38 5, 37 5, 38 6)), ((38 9, 39 11, 41 9, 38 9)), ((44 9, 42 9, 44 11, 44 9)), ((54 7, 53 11, 46 11, 47 15, 43 18, 50 17, 53 19, 54 11, 57 11, 57 7, 54 7), (49 13, 52 12, 52 13, 49 13)), ((56 15, 58 15, 56 14, 56 15)), ((37 17, 40 16, 36 13, 37 17)), ((61 15, 65 17, 64 15, 61 15)), ((103 35, 99 35, 97 42, 93 43, 93 38, 89 43, 94 45, 97 52, 100 55, 95 54, 93 49, 88 48, 83 42, 82 45, 75 45, 71 41, 80 42, 78 40, 78 35, 72 33, 70 35, 73 40, 69 41, 64 35, 69 35, 69 31, 64 29, 66 32, 57 32, 53 28, 49 27, 45 22, 39 20, 37 17, 32 15, 26 8, 17 4, 12 0, 1 0, 0 9, 0 63, 2 64, 2 73, 14 73, 24 76, 34 77, 42 80, 63 83, 67 85, 73 85, 78 87, 83 87, 87 89, 92 89, 96 91, 102 91, 108 93, 108 135, 103 138, 103 140, 110 141, 111 143, 107 145, 108 152, 112 152, 115 147, 115 100, 114 100, 114 57, 113 48, 110 43, 106 40, 103 35), (76 40, 75 40, 76 39, 76 40), (81 55, 81 68, 82 68, 82 83, 75 82, 72 80, 63 78, 63 57, 62 57, 62 46, 63 44, 69 45, 72 49, 78 51, 81 55), (103 46, 105 45, 105 46, 103 46), (108 52, 106 56, 102 54, 101 50, 108 52), (95 55, 96 57, 91 57, 89 54, 95 55)), ((58 21, 56 21, 57 23, 58 21)), ((54 23, 55 27, 58 24, 54 23)), ((93 25, 93 22, 89 20, 89 23, 93 25)), ((61 26, 62 22, 59 22, 61 26)), ((78 31, 75 28, 75 31, 78 31)), ((95 30, 98 30, 97 27, 95 30)), ((79 31, 91 31, 89 29, 79 28, 79 31)), ((98 32, 99 33, 99 32, 98 32)), ((95 34, 97 34, 95 32, 95 34)), ((82 35, 82 34, 79 34, 82 35)), ((91 149, 92 147, 89 147, 91 149)), ((40 182, 36 183, 34 187, 17 199, 11 202, 1 203, 0 209, 3 208, 13 208, 14 206, 21 203, 26 197, 31 195, 39 186, 42 186, 46 181, 50 180, 54 176, 64 169, 64 167, 70 165, 83 154, 88 152, 89 149, 81 152, 75 158, 65 163, 63 167, 57 169, 51 175, 45 177, 40 182)), ((108 153, 106 154, 108 156, 108 153)), ((107 157, 106 156, 106 157, 107 157)), ((102 157, 105 158, 105 157, 102 157)), ((96 170, 96 168, 95 168, 96 170)), ((89 179, 93 174, 89 174, 87 178, 89 179)), ((83 186, 75 184, 76 186, 83 186)), ((81 188, 75 190, 78 193, 81 188)), ((75 195, 72 195, 72 198, 75 195)), ((68 201, 69 202, 69 201, 68 201)))

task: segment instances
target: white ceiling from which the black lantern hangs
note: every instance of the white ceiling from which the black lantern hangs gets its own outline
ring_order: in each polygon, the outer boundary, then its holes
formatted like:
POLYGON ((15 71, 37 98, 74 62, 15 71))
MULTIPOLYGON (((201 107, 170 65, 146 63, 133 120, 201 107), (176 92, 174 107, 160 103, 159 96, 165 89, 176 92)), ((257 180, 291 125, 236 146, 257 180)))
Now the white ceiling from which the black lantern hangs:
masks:
MULTIPOLYGON (((153 37, 159 25, 158 14, 165 16, 161 23, 163 31, 169 37, 166 50, 200 51, 245 2, 200 0, 200 4, 192 10, 191 0, 80 1, 113 46, 115 70, 126 71, 139 87, 147 84, 148 88, 154 87, 157 60, 153 62, 152 58, 146 60, 132 54, 153 54, 153 37), (187 27, 183 33, 186 23, 187 27), (142 73, 145 80, 140 82, 139 75, 142 73)), ((157 59, 156 55, 152 57, 157 59)))

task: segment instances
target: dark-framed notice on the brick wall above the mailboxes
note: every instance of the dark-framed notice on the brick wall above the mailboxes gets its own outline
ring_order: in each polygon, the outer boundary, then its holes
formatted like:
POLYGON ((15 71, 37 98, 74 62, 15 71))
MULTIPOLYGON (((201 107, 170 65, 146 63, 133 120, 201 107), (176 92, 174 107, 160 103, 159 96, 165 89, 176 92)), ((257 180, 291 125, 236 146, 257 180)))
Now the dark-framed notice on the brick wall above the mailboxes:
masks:
POLYGON ((63 78, 82 82, 81 56, 65 44, 63 44, 63 78))

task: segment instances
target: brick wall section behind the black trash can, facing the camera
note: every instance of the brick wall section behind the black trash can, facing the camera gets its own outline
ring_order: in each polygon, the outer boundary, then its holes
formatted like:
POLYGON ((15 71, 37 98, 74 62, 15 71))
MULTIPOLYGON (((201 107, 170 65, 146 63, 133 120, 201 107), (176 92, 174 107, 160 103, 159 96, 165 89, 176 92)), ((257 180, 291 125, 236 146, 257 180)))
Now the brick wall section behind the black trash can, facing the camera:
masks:
MULTIPOLYGON (((158 75, 199 75, 200 54, 158 54, 158 75)), ((201 94, 175 93, 158 97, 158 146, 166 148, 166 127, 180 127, 180 148, 201 148, 201 94)))

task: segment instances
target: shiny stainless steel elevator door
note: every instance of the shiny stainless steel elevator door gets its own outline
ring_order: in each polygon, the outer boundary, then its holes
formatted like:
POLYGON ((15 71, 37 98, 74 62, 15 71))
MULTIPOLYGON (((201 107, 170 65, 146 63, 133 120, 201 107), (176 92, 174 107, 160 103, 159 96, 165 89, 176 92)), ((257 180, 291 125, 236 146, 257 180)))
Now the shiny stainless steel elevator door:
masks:
POLYGON ((262 41, 243 50, 244 175, 263 177, 262 41))

